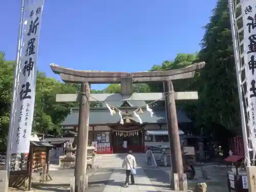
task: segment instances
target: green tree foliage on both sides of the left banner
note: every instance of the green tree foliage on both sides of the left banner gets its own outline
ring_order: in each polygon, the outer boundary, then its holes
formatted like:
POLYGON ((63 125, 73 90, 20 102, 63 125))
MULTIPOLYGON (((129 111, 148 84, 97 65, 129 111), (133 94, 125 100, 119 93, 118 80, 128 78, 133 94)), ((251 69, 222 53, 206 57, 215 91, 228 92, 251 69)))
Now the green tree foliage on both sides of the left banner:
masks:
MULTIPOLYGON (((5 144, 8 135, 14 68, 14 62, 5 60, 5 54, 0 52, 0 142, 3 144, 5 144)), ((75 84, 61 83, 38 72, 33 131, 59 134, 60 122, 70 113, 70 108, 77 103, 56 103, 56 94, 75 92, 75 84)))

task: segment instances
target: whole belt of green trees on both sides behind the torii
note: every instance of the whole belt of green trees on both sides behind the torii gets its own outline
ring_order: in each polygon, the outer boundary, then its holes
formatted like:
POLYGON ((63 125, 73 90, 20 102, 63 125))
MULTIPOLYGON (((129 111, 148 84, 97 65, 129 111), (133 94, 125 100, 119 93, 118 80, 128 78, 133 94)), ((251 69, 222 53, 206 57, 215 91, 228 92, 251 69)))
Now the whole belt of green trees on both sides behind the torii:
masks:
MULTIPOLYGON (((209 23, 204 27, 205 34, 201 50, 195 54, 177 54, 174 60, 165 60, 161 65, 154 65, 151 71, 165 71, 183 68, 197 61, 205 61, 204 69, 195 78, 174 81, 175 91, 198 91, 199 100, 182 101, 187 115, 196 122, 197 127, 205 127, 210 133, 219 124, 233 133, 240 133, 240 110, 237 93, 236 70, 233 58, 227 0, 218 0, 209 23)), ((13 84, 14 62, 5 60, 0 53, 0 133, 1 142, 5 142, 8 133, 11 90, 13 84)), ((35 118, 33 130, 39 133, 59 134, 60 122, 77 103, 56 103, 57 93, 75 93, 76 84, 62 83, 37 74, 35 118)), ((163 91, 161 83, 134 84, 134 92, 163 91)), ((92 93, 119 93, 120 85, 111 84, 101 91, 92 93)), ((92 106, 97 107, 99 103, 92 106)), ((201 129, 201 128, 200 128, 201 129)))

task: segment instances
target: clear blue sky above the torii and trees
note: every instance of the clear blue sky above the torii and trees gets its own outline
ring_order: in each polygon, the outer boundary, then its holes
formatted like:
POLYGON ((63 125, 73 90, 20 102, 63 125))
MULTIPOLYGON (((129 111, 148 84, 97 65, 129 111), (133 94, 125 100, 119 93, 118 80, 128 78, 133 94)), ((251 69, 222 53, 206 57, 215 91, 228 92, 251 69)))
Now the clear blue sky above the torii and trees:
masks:
MULTIPOLYGON (((20 0, 1 2, 0 51, 15 59, 20 0)), ((45 0, 38 69, 146 71, 200 50, 216 0, 45 0), (72 3, 70 3, 72 2, 72 3)), ((104 85, 94 85, 102 89, 104 85)))

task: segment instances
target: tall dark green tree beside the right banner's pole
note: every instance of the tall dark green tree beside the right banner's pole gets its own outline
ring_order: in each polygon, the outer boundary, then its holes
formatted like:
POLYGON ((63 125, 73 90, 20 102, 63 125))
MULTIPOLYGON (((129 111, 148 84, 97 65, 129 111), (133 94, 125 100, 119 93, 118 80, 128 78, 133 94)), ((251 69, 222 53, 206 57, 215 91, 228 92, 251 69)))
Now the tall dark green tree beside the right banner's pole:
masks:
POLYGON ((233 57, 228 1, 219 0, 205 26, 202 49, 198 54, 206 65, 198 77, 198 122, 219 123, 240 133, 240 111, 233 57))

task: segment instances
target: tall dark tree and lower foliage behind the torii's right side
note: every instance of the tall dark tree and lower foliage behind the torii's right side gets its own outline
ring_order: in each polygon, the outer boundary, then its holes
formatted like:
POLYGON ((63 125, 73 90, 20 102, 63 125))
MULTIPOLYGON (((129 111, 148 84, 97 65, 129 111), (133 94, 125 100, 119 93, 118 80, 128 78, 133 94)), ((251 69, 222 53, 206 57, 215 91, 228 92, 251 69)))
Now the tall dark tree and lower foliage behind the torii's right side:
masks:
MULTIPOLYGON (((218 126, 224 126, 234 134, 240 134, 241 118, 227 0, 218 0, 204 29, 198 53, 177 54, 174 60, 154 65, 151 71, 173 70, 205 61, 205 67, 195 78, 174 81, 175 91, 198 91, 199 100, 179 101, 177 104, 182 106, 200 130, 205 127, 205 131, 212 133, 218 126)), ((163 91, 161 83, 145 87, 142 86, 145 92, 163 91)), ((115 92, 112 85, 106 90, 115 92)), ((120 90, 118 85, 115 85, 115 90, 120 90)))

